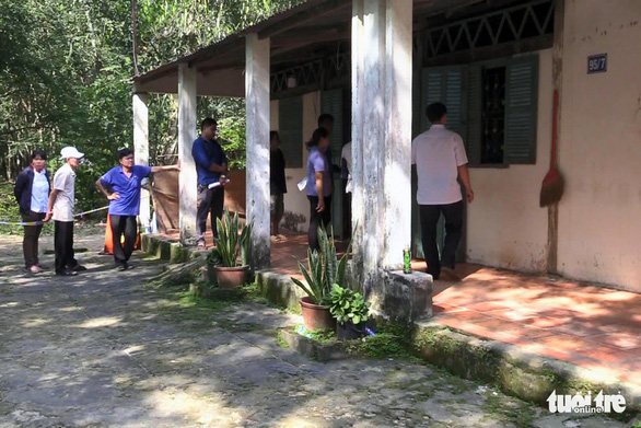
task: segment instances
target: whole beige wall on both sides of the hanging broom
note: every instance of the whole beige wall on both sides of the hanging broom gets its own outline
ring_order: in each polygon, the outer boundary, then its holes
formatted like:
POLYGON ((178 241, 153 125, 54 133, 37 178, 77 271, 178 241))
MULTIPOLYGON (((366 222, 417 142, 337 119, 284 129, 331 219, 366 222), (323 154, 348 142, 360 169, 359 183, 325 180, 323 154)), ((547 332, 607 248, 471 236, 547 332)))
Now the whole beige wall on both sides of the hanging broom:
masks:
MULTIPOLYGON (((559 273, 641 291, 641 2, 566 2, 559 169, 559 273), (587 57, 607 54, 607 72, 587 57)), ((539 53, 536 165, 471 170, 467 257, 545 271, 547 209, 538 207, 549 164, 551 50, 539 53)))

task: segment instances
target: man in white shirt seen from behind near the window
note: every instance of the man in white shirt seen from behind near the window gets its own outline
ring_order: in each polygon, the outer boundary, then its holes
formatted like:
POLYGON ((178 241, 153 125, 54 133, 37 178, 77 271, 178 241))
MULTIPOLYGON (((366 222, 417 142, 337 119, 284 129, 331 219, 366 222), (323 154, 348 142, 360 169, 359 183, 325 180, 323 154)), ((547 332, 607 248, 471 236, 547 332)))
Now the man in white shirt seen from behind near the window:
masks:
POLYGON ((445 105, 430 104, 426 113, 432 126, 411 143, 411 163, 416 164, 418 174, 417 201, 423 253, 428 274, 434 279, 444 274, 444 279, 458 281, 461 277, 454 271, 454 266, 463 229, 463 197, 457 177, 461 177, 465 186, 467 201, 474 200, 467 155, 461 136, 445 128, 445 105), (445 244, 439 258, 436 223, 441 212, 445 218, 445 244))

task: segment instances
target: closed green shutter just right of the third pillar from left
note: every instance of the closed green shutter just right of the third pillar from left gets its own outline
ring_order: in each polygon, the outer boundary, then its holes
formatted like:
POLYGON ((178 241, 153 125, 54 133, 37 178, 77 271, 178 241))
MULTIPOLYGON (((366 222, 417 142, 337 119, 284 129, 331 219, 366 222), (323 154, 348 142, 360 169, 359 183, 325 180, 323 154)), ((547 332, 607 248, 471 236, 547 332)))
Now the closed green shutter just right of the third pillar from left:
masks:
POLYGON ((303 99, 283 99, 278 103, 280 149, 288 167, 303 167, 303 99))

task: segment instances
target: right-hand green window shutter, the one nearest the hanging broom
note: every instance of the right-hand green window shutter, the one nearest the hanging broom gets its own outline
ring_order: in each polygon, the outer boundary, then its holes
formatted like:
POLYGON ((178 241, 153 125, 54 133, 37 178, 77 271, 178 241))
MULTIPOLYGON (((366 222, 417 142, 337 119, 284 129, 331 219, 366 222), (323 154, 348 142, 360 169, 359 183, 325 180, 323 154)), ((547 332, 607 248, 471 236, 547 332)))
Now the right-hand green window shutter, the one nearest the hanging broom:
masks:
POLYGON ((538 56, 510 60, 505 80, 505 163, 534 164, 538 56))

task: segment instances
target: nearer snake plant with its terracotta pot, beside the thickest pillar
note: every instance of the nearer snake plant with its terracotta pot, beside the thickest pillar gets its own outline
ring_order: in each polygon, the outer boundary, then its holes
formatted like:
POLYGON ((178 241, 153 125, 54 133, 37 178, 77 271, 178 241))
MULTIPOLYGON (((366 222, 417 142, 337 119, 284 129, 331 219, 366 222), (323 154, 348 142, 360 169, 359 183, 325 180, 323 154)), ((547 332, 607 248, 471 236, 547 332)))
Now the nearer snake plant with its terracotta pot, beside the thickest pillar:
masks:
POLYGON ((349 243, 345 255, 338 259, 334 233, 327 235, 325 228, 318 228, 320 251, 307 248, 307 268, 296 261, 305 282, 292 277, 292 281, 307 296, 301 299, 301 310, 305 328, 310 331, 335 328, 336 322, 329 313, 329 292, 333 284, 345 284, 347 259, 351 248, 349 243))

